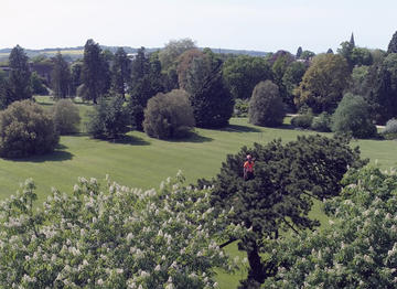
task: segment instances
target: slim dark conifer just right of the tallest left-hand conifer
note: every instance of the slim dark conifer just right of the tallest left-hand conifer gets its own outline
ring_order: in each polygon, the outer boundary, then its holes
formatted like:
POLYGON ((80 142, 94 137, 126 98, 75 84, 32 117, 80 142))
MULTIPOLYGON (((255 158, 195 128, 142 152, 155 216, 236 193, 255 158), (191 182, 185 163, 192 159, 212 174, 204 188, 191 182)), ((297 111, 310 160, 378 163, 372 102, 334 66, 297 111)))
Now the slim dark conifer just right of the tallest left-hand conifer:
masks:
POLYGON ((131 78, 131 61, 122 47, 115 53, 114 64, 111 66, 112 89, 125 97, 127 84, 131 78))

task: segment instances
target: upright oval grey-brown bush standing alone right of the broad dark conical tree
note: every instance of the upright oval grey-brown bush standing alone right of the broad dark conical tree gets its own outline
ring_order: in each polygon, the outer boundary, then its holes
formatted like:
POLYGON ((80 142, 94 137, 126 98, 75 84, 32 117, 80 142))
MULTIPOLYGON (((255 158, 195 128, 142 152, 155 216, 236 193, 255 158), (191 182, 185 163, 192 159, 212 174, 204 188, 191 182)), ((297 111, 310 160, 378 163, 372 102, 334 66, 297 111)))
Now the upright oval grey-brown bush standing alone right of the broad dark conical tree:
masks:
POLYGON ((248 115, 249 122, 257 126, 282 125, 286 110, 276 84, 266 81, 255 86, 249 100, 248 115))

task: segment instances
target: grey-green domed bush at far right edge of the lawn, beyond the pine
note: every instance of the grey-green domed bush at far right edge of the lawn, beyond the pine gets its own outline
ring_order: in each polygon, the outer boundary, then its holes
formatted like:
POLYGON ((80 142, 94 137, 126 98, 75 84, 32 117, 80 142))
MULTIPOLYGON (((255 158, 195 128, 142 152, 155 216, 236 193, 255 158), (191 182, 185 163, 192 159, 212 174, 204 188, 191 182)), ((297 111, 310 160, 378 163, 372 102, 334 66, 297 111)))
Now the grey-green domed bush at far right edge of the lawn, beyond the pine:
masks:
POLYGON ((363 97, 346 94, 332 115, 332 131, 351 133, 355 138, 376 136, 376 126, 369 114, 369 106, 363 97))

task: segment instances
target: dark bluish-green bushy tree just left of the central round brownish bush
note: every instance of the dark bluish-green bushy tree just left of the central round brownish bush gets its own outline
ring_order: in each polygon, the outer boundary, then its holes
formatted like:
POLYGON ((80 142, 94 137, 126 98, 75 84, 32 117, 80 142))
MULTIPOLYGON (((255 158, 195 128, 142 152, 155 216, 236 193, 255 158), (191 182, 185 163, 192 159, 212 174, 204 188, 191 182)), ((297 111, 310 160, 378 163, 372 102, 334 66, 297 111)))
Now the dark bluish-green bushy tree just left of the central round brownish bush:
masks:
POLYGON ((94 111, 89 114, 88 133, 96 139, 117 139, 129 131, 128 113, 124 103, 120 96, 100 98, 94 111))

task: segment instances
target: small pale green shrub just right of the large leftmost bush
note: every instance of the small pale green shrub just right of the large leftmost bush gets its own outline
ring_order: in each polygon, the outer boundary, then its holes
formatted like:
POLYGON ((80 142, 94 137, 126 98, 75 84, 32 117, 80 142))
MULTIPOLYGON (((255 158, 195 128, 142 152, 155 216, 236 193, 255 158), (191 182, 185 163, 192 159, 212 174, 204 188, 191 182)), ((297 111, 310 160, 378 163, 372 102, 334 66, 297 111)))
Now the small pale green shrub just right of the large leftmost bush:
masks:
POLYGON ((61 135, 78 131, 81 117, 78 108, 71 99, 60 99, 52 108, 56 130, 61 135))

